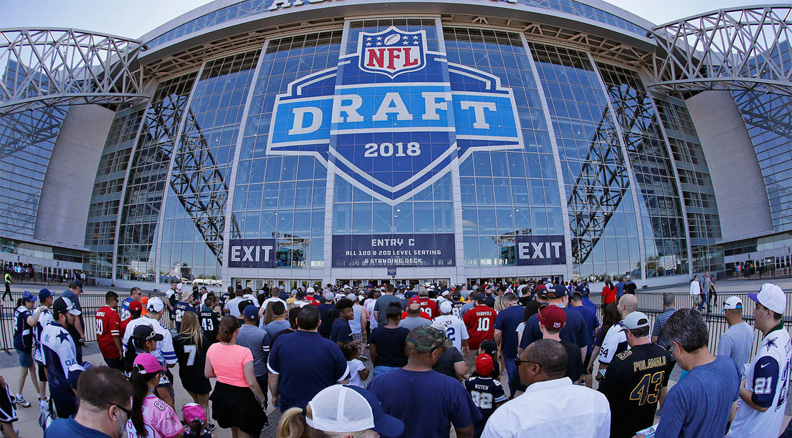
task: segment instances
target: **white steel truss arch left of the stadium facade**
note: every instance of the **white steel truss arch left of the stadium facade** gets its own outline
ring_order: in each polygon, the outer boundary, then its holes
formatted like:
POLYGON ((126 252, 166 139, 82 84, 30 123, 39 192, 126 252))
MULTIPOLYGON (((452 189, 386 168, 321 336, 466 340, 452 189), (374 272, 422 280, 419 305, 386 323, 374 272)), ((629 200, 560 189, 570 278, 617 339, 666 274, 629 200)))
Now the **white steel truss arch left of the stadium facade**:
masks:
POLYGON ((0 116, 145 100, 140 41, 71 28, 0 29, 0 116))

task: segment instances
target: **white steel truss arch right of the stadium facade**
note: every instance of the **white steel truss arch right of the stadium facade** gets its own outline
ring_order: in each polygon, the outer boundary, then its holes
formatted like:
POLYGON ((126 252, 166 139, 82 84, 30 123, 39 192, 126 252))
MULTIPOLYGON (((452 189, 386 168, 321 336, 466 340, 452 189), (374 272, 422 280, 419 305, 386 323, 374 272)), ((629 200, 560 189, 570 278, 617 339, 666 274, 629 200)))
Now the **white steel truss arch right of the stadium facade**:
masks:
POLYGON ((721 89, 792 96, 792 6, 719 9, 657 26, 654 83, 666 92, 721 89))

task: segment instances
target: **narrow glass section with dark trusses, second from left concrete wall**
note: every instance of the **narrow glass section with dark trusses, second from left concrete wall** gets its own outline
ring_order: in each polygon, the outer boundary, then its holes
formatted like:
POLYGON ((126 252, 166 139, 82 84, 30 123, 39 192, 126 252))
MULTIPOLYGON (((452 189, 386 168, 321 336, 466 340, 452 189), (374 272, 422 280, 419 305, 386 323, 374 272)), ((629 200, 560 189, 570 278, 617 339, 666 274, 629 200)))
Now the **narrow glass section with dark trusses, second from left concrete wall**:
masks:
POLYGON ((196 73, 158 86, 143 119, 129 170, 116 255, 116 278, 156 281, 154 247, 173 143, 196 73))

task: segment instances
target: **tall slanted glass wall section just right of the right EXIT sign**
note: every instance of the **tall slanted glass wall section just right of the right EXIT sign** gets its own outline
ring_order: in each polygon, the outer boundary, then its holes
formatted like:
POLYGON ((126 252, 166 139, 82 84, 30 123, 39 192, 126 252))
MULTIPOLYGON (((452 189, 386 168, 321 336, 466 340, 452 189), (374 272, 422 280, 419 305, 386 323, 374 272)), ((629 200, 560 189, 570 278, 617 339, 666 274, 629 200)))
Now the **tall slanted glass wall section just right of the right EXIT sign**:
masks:
POLYGON ((531 43, 562 162, 573 274, 640 278, 633 194, 615 121, 588 55, 531 43))

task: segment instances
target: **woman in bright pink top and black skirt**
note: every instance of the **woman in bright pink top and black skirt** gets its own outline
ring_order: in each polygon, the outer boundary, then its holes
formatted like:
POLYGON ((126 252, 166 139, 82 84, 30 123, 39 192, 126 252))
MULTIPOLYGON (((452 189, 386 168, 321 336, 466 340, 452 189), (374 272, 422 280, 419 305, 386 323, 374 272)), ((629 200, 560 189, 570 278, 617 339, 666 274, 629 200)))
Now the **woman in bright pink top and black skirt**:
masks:
POLYGON ((267 399, 261 391, 253 371, 253 353, 237 345, 239 321, 226 315, 220 320, 217 341, 206 352, 204 374, 217 377, 211 417, 223 429, 231 429, 234 438, 261 435, 267 422, 267 399))

